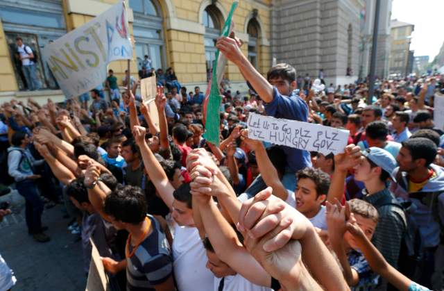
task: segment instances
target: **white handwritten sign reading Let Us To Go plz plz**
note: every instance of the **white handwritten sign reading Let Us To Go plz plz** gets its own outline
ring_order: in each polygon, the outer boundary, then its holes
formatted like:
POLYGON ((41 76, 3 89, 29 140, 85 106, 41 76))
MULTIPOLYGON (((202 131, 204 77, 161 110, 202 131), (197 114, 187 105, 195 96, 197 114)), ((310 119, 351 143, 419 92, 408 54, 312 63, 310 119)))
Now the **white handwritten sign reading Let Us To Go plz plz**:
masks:
POLYGON ((250 113, 248 138, 262 140, 306 151, 343 153, 348 142, 348 131, 308 122, 278 119, 250 113))

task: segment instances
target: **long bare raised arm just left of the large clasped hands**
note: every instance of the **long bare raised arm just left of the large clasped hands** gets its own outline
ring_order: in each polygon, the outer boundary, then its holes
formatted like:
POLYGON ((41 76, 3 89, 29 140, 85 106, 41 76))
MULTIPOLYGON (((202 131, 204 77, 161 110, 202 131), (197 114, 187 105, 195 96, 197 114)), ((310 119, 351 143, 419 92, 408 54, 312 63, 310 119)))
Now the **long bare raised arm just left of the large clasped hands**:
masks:
POLYGON ((173 185, 168 180, 167 174, 164 172, 162 165, 160 165, 157 158, 155 158, 154 153, 148 147, 145 140, 146 128, 142 126, 134 126, 133 135, 137 146, 139 146, 140 153, 142 154, 142 159, 144 160, 144 165, 148 176, 150 176, 151 181, 153 181, 155 188, 160 194, 160 198, 168 206, 168 208, 173 210, 173 185))

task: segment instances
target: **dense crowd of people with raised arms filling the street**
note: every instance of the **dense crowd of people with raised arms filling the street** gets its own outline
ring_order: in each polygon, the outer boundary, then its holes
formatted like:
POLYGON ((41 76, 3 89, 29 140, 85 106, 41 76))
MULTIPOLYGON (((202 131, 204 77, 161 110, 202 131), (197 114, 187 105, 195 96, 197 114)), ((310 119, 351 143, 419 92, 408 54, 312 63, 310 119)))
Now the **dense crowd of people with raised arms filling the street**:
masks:
POLYGON ((110 101, 94 89, 92 101, 1 105, 2 154, 33 238, 50 240, 44 197, 80 231, 85 274, 92 239, 110 290, 442 290, 440 76, 382 81, 375 96, 366 83, 298 88, 291 65, 264 77, 236 40, 216 47, 250 87, 221 85, 220 144, 205 139, 200 88, 158 72, 158 123, 139 81, 120 91, 112 71, 110 101), (325 155, 253 140, 250 113, 346 128, 348 146, 325 155))

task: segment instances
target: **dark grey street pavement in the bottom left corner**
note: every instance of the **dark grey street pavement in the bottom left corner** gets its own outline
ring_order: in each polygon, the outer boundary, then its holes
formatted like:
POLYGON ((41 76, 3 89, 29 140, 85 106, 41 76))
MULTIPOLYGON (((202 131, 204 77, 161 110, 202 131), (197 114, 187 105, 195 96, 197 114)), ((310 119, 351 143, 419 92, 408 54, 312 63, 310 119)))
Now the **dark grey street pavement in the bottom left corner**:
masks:
POLYGON ((46 243, 28 235, 24 210, 0 222, 0 253, 17 278, 12 291, 85 290, 81 242, 67 230, 69 219, 62 218, 62 208, 44 210, 42 224, 51 236, 46 243))

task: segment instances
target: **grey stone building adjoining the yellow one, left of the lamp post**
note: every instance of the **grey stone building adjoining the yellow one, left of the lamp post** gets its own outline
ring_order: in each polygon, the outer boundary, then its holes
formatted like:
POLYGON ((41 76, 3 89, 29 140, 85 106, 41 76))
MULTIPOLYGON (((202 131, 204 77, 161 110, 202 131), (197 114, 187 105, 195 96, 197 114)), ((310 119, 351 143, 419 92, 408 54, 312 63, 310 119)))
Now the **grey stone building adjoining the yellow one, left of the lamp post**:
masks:
POLYGON ((298 75, 343 85, 357 80, 363 0, 274 0, 271 51, 298 75))

